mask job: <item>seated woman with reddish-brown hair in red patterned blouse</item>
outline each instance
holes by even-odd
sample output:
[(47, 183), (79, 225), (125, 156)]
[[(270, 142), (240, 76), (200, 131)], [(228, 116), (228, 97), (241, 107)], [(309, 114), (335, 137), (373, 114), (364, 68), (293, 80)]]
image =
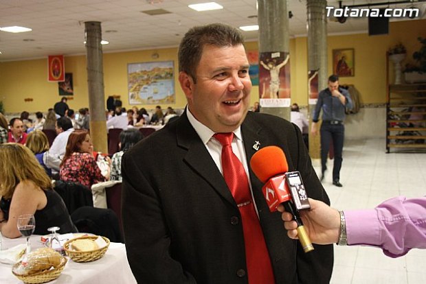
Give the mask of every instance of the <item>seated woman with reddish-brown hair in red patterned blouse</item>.
[[(105, 157), (111, 167), (111, 158)], [(111, 169), (102, 176), (100, 168), (93, 157), (93, 144), (87, 130), (75, 130), (69, 135), (67, 150), (60, 163), (60, 179), (79, 182), (86, 187), (109, 180)]]

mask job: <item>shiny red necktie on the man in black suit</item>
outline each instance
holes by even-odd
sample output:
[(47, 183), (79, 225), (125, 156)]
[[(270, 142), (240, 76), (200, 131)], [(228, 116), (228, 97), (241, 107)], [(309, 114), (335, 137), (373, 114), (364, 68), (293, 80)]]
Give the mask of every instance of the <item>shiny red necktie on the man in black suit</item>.
[(240, 210), (243, 222), (245, 255), (249, 284), (275, 283), (269, 252), (251, 198), (249, 181), (243, 164), (232, 152), (234, 133), (213, 135), (222, 144), (223, 178)]

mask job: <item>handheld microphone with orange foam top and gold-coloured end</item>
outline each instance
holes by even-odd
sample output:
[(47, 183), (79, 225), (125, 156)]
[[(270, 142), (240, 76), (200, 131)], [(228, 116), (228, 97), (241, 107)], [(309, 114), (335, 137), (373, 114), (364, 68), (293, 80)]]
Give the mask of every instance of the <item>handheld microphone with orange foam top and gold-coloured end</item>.
[(298, 224), (299, 241), (304, 252), (313, 250), (299, 215), (299, 210), (311, 208), (299, 171), (287, 172), (289, 170), (287, 158), (277, 146), (267, 146), (258, 150), (251, 157), (250, 167), (258, 179), (265, 183), (262, 193), (267, 200), (269, 211), (276, 211), (278, 204), (282, 203), (284, 209), (293, 215), (293, 220)]

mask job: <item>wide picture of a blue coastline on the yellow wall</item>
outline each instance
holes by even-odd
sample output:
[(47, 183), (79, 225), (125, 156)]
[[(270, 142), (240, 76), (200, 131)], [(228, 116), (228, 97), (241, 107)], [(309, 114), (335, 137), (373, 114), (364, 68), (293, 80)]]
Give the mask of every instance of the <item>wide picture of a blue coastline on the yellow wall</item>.
[(175, 104), (173, 61), (127, 64), (129, 104)]

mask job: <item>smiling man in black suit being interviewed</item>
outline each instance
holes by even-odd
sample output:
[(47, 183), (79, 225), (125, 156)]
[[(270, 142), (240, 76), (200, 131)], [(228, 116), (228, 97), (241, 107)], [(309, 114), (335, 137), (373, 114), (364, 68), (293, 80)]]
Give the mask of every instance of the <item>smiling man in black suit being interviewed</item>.
[[(179, 82), (186, 111), (142, 140), (122, 160), (122, 218), (128, 262), (139, 283), (328, 283), (333, 247), (304, 253), (289, 239), (280, 213), (269, 212), (262, 182), (249, 168), (267, 145), (281, 147), (311, 198), (329, 203), (297, 126), (248, 113), (249, 63), (238, 30), (222, 24), (194, 27), (179, 46)], [(272, 281), (254, 281), (247, 262), (243, 215), (222, 174), (215, 133), (233, 132), (267, 248)], [(244, 206), (244, 204), (243, 204)], [(256, 272), (262, 274), (262, 271)], [(255, 273), (255, 274), (256, 274)], [(257, 278), (259, 279), (259, 278)]]

